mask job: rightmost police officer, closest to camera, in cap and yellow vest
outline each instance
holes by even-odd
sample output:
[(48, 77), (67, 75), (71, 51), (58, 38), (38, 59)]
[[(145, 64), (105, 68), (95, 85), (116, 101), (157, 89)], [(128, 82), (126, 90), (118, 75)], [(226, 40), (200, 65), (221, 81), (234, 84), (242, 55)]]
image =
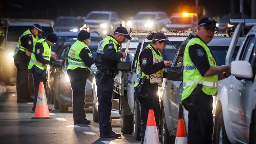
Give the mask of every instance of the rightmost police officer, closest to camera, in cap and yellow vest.
[(207, 44), (213, 39), (216, 21), (204, 17), (197, 36), (185, 48), (182, 105), (188, 110), (188, 144), (211, 144), (213, 133), (212, 95), (218, 80), (230, 76), (230, 66), (216, 66)]

